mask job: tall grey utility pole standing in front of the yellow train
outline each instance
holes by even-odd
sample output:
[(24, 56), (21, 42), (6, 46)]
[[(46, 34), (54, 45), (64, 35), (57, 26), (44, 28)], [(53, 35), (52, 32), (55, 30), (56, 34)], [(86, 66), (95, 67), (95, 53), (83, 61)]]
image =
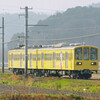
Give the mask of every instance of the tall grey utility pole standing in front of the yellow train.
[(28, 7), (25, 7), (25, 78), (28, 77), (27, 75), (27, 66), (28, 66)]

